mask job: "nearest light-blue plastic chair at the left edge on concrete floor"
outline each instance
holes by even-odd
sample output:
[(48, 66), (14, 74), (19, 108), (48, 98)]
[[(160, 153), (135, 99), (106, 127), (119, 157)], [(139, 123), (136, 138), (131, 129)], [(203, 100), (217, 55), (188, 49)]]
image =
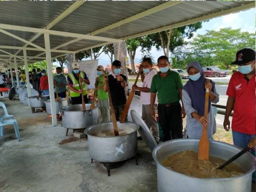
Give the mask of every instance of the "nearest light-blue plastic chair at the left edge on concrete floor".
[(20, 141), (20, 131), (17, 121), (13, 118), (13, 115), (8, 114), (6, 106), (3, 102), (0, 102), (0, 107), (3, 108), (3, 111), (5, 113), (3, 116), (0, 117), (0, 137), (3, 137), (3, 126), (13, 124), (17, 140)]

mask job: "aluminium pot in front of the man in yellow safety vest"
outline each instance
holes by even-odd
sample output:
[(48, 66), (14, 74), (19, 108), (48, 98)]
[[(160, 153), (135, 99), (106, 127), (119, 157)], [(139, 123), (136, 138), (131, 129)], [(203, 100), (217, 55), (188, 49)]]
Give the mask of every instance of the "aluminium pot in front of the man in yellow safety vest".
[(90, 110), (90, 105), (85, 104), (85, 111), (83, 111), (82, 104), (61, 108), (62, 126), (69, 129), (81, 129), (98, 123), (98, 106), (95, 105), (95, 108)]

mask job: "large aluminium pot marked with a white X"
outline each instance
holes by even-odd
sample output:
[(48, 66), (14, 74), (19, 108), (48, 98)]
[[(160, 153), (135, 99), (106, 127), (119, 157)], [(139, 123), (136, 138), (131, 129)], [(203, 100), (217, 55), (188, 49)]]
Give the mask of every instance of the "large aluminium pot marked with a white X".
[(120, 130), (127, 130), (129, 133), (123, 136), (96, 137), (93, 136), (99, 131), (113, 130), (113, 123), (99, 123), (92, 125), (85, 130), (88, 136), (89, 154), (94, 160), (113, 163), (130, 159), (137, 154), (137, 130), (139, 125), (134, 122), (117, 122)]

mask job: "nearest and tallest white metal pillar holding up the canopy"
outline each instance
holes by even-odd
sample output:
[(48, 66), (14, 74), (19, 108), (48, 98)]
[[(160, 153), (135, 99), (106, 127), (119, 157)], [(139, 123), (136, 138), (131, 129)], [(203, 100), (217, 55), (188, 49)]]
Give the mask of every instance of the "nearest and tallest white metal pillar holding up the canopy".
[(56, 119), (56, 106), (54, 98), (54, 89), (53, 89), (53, 76), (52, 76), (52, 57), (51, 57), (51, 47), (50, 47), (50, 38), (48, 33), (44, 33), (44, 44), (45, 44), (45, 55), (47, 61), (47, 73), (48, 73), (48, 83), (49, 83), (49, 93), (50, 93), (50, 103), (51, 103), (51, 114), (52, 114), (52, 126), (57, 125)]

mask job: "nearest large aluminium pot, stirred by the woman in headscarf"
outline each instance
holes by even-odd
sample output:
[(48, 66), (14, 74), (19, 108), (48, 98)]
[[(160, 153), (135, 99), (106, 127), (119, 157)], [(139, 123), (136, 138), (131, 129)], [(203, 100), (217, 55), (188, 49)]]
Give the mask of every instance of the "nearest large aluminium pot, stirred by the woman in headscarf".
[[(195, 178), (174, 172), (164, 167), (161, 162), (169, 155), (184, 150), (198, 151), (199, 140), (177, 139), (161, 143), (153, 150), (153, 158), (157, 163), (158, 192), (250, 192), (252, 173), (255, 171), (255, 159), (247, 152), (233, 163), (246, 172), (230, 178)], [(239, 153), (241, 148), (220, 141), (210, 141), (209, 155), (228, 160)]]

